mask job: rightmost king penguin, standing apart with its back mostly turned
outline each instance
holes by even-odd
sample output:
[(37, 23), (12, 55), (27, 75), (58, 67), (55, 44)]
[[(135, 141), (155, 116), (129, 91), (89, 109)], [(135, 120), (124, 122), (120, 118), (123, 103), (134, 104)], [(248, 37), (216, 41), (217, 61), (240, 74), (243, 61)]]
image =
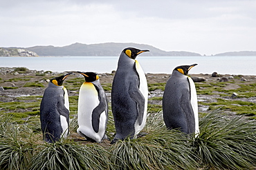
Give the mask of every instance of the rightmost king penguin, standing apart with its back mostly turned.
[(176, 67), (163, 93), (163, 119), (167, 129), (199, 134), (196, 88), (188, 71), (197, 64)]

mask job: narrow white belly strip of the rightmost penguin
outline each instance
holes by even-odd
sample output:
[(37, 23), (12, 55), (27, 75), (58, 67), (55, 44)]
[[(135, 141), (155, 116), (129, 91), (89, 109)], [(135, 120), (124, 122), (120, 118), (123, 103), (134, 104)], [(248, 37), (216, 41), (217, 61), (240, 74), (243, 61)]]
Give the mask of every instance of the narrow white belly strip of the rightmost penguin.
[(190, 103), (192, 105), (192, 109), (194, 111), (194, 120), (195, 120), (195, 134), (196, 136), (199, 134), (199, 115), (198, 115), (198, 105), (197, 105), (197, 96), (196, 96), (196, 87), (194, 85), (194, 81), (192, 78), (188, 77), (190, 81), (190, 92), (191, 92), (191, 100)]

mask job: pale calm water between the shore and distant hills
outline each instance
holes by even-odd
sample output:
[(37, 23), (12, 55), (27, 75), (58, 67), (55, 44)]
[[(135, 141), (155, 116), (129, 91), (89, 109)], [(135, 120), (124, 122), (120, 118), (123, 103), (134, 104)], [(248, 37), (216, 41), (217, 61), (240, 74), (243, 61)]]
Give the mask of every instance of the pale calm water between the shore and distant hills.
[[(0, 67), (27, 67), (53, 72), (80, 71), (111, 73), (119, 56), (0, 57)], [(190, 74), (256, 75), (256, 56), (138, 56), (145, 73), (167, 73), (179, 65), (197, 63)]]

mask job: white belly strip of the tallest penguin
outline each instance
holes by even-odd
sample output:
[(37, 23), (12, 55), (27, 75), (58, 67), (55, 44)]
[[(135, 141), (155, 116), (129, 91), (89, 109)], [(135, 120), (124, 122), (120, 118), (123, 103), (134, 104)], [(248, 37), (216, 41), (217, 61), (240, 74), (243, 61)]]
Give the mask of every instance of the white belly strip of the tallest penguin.
[(141, 125), (139, 125), (138, 120), (136, 120), (135, 123), (135, 138), (138, 135), (138, 133), (143, 129), (143, 127), (145, 126), (146, 123), (146, 119), (147, 119), (147, 98), (148, 98), (148, 89), (147, 89), (147, 78), (145, 76), (145, 72), (143, 71), (143, 68), (140, 66), (140, 63), (138, 63), (138, 61), (136, 62), (136, 70), (138, 72), (138, 76), (140, 78), (140, 92), (143, 94), (144, 98), (145, 98), (145, 110), (144, 110), (144, 114), (143, 114), (143, 123)]

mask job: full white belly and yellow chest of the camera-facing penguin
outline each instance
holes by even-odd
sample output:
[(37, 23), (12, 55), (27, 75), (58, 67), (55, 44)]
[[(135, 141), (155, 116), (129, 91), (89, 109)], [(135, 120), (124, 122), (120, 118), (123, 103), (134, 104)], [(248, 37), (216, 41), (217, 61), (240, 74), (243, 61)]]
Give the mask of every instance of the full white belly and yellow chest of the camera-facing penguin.
[[(105, 111), (100, 115), (100, 127), (98, 133), (95, 133), (92, 125), (93, 109), (100, 103), (98, 92), (92, 83), (83, 83), (80, 87), (80, 94), (78, 98), (77, 122), (79, 128), (77, 133), (80, 136), (86, 136), (100, 142), (104, 136), (105, 123), (107, 120)], [(82, 133), (82, 134), (81, 134)]]

